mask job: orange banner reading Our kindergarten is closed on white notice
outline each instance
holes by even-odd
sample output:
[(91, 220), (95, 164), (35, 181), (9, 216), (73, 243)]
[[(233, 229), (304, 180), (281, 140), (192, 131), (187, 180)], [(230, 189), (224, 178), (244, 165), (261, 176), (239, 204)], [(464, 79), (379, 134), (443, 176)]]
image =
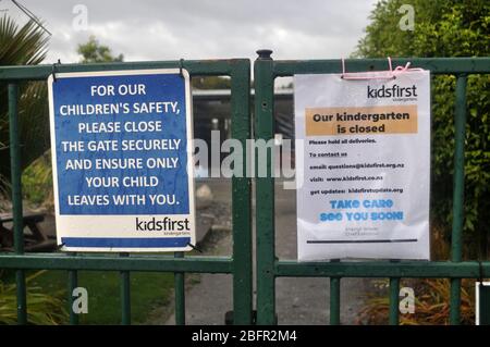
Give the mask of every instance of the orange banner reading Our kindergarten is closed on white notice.
[(417, 133), (417, 106), (306, 108), (306, 136)]

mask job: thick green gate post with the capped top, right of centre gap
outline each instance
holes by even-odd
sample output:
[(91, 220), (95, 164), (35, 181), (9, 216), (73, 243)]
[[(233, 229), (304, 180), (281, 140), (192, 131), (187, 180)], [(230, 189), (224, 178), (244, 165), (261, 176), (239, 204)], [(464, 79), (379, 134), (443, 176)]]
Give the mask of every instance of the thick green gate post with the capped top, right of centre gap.
[[(257, 140), (273, 138), (274, 76), (272, 51), (257, 51), (255, 76), (255, 132)], [(259, 156), (257, 156), (259, 157)], [(267, 149), (265, 162), (256, 160), (256, 233), (257, 233), (257, 324), (275, 324), (275, 245), (273, 150)], [(260, 168), (267, 175), (260, 177)]]

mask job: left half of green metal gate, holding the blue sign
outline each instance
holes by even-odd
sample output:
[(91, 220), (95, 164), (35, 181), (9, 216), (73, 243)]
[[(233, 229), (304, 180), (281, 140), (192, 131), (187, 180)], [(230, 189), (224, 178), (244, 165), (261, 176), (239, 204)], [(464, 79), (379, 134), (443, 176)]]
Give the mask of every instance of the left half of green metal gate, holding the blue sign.
[[(142, 69), (177, 69), (181, 61), (108, 63), (108, 64), (57, 64), (56, 72), (91, 72)], [(246, 59), (183, 61), (182, 67), (193, 76), (230, 76), (232, 137), (242, 141), (250, 138), (250, 62)], [(53, 72), (52, 65), (3, 66), (0, 67), (0, 83), (9, 88), (10, 153), (12, 172), (12, 203), (14, 215), (14, 252), (0, 253), (0, 269), (16, 270), (17, 322), (27, 323), (25, 271), (30, 269), (66, 270), (69, 281), (70, 322), (76, 324), (72, 290), (77, 286), (78, 270), (106, 270), (121, 272), (121, 318), (123, 324), (131, 323), (130, 274), (131, 271), (173, 272), (175, 278), (175, 322), (185, 324), (185, 273), (228, 273), (233, 276), (233, 323), (252, 323), (252, 213), (250, 178), (232, 179), (233, 255), (232, 257), (184, 258), (183, 252), (174, 256), (111, 255), (95, 256), (82, 253), (24, 253), (23, 211), (21, 188), (21, 156), (19, 139), (19, 85), (29, 80), (46, 80)], [(246, 154), (243, 160), (245, 162)], [(3, 163), (2, 163), (3, 164)], [(245, 169), (244, 169), (245, 170)], [(224, 320), (224, 314), (223, 314)]]

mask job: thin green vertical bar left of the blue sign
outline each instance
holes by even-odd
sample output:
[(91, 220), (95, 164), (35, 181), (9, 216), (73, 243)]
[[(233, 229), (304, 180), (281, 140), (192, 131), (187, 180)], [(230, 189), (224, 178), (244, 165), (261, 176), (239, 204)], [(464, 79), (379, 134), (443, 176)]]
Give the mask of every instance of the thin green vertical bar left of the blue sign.
[[(14, 230), (14, 248), (17, 255), (24, 253), (24, 225), (22, 212), (21, 185), (21, 146), (19, 140), (19, 86), (9, 84), (9, 126), (10, 126), (10, 166), (12, 183), (12, 211)], [(26, 287), (24, 270), (15, 273), (17, 294), (17, 323), (27, 323)]]

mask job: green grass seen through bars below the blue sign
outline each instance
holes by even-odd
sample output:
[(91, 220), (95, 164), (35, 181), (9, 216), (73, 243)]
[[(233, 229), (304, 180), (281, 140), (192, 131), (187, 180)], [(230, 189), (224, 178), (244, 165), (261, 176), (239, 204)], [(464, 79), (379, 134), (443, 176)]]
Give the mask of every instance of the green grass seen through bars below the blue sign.
[[(47, 271), (36, 277), (33, 285), (44, 288), (46, 293), (64, 290), (63, 303), (68, 308), (68, 273), (65, 271)], [(78, 271), (78, 286), (88, 292), (88, 313), (79, 315), (81, 324), (121, 323), (119, 272)], [(144, 323), (155, 308), (169, 303), (172, 292), (173, 274), (132, 272), (132, 323)]]

